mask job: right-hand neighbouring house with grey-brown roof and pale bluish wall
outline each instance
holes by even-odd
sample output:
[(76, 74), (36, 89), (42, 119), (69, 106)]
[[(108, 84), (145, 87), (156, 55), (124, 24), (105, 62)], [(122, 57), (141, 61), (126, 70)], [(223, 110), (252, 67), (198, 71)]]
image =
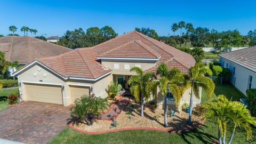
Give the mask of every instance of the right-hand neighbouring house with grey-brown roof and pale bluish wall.
[(221, 66), (232, 72), (231, 83), (245, 94), (256, 88), (256, 46), (219, 54)]

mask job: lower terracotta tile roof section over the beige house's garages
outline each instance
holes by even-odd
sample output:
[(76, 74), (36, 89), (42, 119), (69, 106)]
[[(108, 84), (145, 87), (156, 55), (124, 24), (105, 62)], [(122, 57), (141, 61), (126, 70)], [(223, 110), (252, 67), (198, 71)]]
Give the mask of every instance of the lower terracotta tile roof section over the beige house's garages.
[(63, 77), (98, 78), (111, 71), (96, 60), (97, 53), (89, 47), (37, 61)]

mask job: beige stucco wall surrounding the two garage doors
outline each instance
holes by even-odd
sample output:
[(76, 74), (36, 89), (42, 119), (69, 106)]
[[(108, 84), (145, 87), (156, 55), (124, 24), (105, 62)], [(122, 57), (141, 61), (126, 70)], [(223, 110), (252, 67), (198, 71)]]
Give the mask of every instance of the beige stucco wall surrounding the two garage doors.
[[(41, 69), (41, 70), (38, 70)], [(36, 76), (34, 76), (34, 73), (36, 73)], [(46, 77), (43, 75), (46, 74)], [(69, 85), (81, 85), (86, 86), (88, 88), (92, 87), (92, 93), (95, 93), (97, 97), (107, 97), (107, 93), (105, 92), (105, 89), (107, 88), (110, 79), (113, 79), (113, 76), (110, 74), (106, 77), (103, 77), (99, 79), (98, 81), (82, 81), (82, 80), (65, 80), (55, 74), (52, 73), (52, 71), (44, 68), (40, 65), (34, 65), (28, 68), (26, 71), (18, 75), (19, 82), (21, 83), (21, 86), (19, 88), (21, 97), (23, 100), (26, 99), (26, 93), (25, 93), (25, 84), (23, 82), (32, 82), (32, 83), (44, 83), (44, 84), (60, 84), (64, 86), (64, 90), (62, 91), (62, 97), (63, 97), (63, 106), (69, 106), (71, 102), (70, 98), (70, 86)], [(40, 82), (42, 81), (42, 82)], [(82, 95), (81, 95), (82, 96)]]

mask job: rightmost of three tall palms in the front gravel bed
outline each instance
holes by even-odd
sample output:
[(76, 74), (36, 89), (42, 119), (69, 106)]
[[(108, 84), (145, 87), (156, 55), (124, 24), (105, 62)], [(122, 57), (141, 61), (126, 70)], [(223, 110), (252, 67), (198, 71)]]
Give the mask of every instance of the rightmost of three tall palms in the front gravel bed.
[(206, 91), (208, 97), (212, 96), (212, 93), (215, 89), (215, 84), (212, 81), (212, 79), (204, 76), (207, 73), (207, 71), (207, 68), (205, 68), (201, 62), (199, 62), (196, 63), (195, 66), (191, 67), (189, 70), (189, 74), (185, 76), (185, 81), (187, 81), (186, 83), (190, 83), (191, 85), (188, 117), (189, 124), (192, 123), (191, 117), (194, 94), (196, 98), (199, 98), (199, 87), (202, 87)]

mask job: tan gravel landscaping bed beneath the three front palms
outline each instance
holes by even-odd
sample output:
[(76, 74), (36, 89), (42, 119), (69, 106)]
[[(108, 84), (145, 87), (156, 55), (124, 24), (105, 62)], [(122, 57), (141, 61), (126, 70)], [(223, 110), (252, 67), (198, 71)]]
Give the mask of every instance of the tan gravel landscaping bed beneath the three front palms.
[[(132, 117), (129, 115), (132, 115)], [(95, 119), (93, 125), (80, 123), (74, 125), (74, 130), (84, 133), (105, 133), (119, 130), (134, 130), (134, 129), (149, 129), (160, 130), (166, 132), (182, 132), (195, 129), (204, 122), (201, 121), (202, 117), (193, 115), (193, 124), (189, 125), (188, 114), (183, 111), (176, 111), (175, 116), (167, 117), (168, 127), (164, 127), (164, 110), (163, 109), (150, 109), (148, 107), (144, 110), (144, 117), (140, 116), (140, 105), (135, 102), (129, 103), (118, 115), (116, 119), (118, 125), (111, 126), (112, 121), (102, 121)], [(71, 125), (69, 125), (71, 127)], [(72, 128), (72, 127), (71, 127)]]

